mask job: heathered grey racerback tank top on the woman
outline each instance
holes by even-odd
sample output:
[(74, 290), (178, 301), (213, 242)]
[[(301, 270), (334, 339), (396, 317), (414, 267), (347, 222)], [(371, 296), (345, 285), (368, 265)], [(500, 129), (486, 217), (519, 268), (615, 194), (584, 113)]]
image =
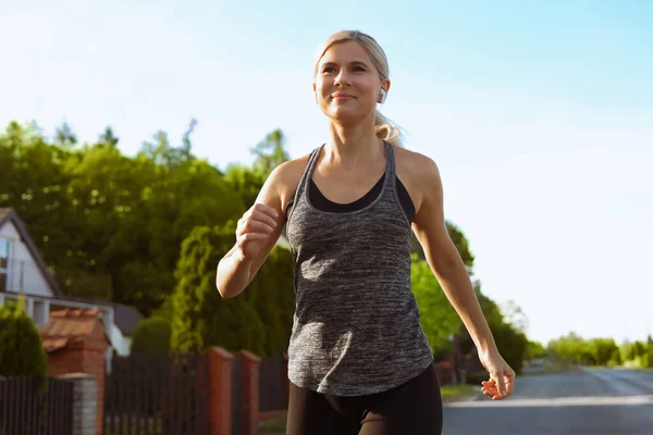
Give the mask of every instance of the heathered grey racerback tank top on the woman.
[(410, 286), (410, 222), (396, 192), (394, 150), (385, 142), (383, 190), (369, 206), (328, 212), (308, 195), (322, 147), (287, 219), (296, 296), (288, 377), (336, 396), (379, 393), (433, 362)]

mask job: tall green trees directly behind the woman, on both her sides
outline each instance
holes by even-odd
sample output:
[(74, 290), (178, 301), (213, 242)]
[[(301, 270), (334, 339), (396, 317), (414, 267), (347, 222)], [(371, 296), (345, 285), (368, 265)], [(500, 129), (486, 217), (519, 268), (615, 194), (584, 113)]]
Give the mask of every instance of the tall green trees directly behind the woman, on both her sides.
[[(251, 165), (221, 171), (193, 153), (195, 126), (192, 121), (177, 144), (157, 132), (128, 157), (111, 127), (93, 144), (79, 144), (65, 124), (47, 138), (35, 124), (12, 122), (0, 134), (0, 207), (16, 210), (66, 295), (132, 304), (149, 318), (135, 333), (135, 345), (151, 346), (138, 337), (145, 333), (177, 351), (218, 345), (281, 355), (294, 312), (287, 247), (272, 251), (237, 298), (222, 299), (214, 277), (219, 259), (235, 241), (236, 221), (270, 172), (289, 159), (283, 132), (269, 133), (251, 148)], [(472, 272), (469, 241), (452, 222), (447, 229)], [(444, 356), (456, 341), (472, 353), (415, 238), (411, 272), (433, 352)], [(542, 346), (527, 338), (518, 307), (506, 312), (479, 282), (476, 291), (500, 349), (519, 370)]]

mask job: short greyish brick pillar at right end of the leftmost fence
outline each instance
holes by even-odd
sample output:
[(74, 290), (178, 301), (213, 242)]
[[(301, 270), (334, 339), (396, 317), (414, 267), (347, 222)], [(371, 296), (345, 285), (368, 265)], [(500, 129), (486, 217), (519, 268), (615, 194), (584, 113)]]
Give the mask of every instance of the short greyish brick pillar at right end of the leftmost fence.
[(97, 380), (86, 373), (69, 373), (58, 376), (73, 383), (73, 432), (72, 435), (98, 433)]

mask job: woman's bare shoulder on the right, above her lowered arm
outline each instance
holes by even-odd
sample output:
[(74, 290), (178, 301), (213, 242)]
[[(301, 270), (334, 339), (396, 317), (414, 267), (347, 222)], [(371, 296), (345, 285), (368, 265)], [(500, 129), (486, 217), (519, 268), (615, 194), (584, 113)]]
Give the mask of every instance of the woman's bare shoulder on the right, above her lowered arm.
[(426, 197), (441, 195), (440, 169), (433, 159), (405, 148), (395, 148), (396, 173), (419, 213)]

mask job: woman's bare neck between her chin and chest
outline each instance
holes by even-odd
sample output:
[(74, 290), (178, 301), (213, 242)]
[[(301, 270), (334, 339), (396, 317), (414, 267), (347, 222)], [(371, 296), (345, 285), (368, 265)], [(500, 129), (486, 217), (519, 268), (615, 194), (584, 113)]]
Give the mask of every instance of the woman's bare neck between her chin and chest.
[(374, 119), (362, 123), (343, 125), (332, 122), (331, 139), (324, 146), (324, 159), (346, 167), (360, 167), (384, 159), (383, 140), (374, 133)]

